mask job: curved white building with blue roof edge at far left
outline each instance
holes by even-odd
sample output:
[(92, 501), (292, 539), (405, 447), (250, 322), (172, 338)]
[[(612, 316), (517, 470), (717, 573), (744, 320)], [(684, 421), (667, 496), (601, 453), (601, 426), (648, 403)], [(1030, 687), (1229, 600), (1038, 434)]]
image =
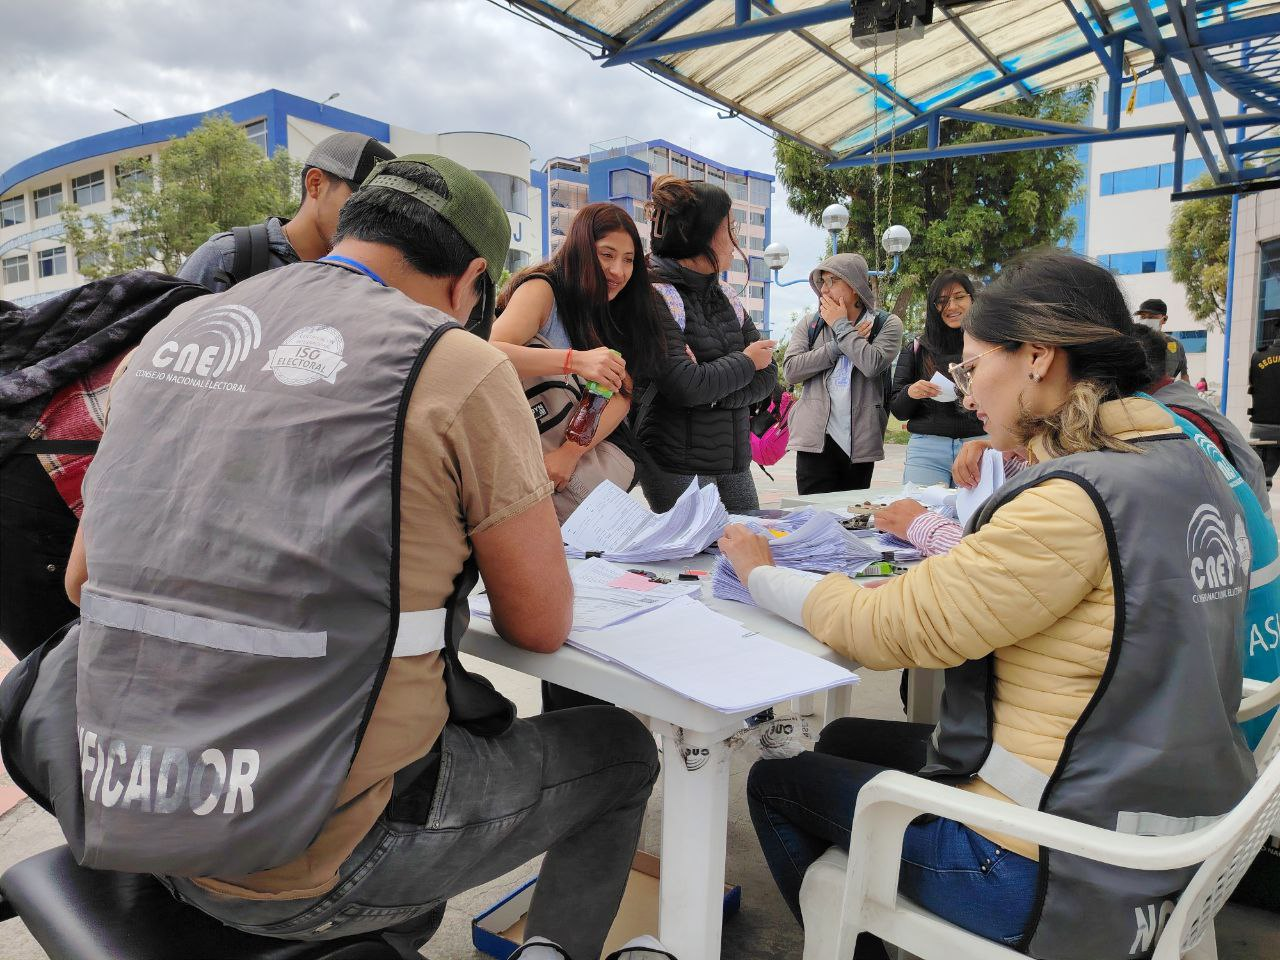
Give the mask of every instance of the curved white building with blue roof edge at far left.
[[(76, 250), (63, 238), (59, 207), (78, 204), (110, 215), (120, 164), (157, 156), (211, 114), (227, 114), (250, 140), (273, 155), (285, 148), (305, 160), (339, 131), (365, 133), (397, 154), (440, 154), (479, 173), (502, 200), (511, 220), (508, 269), (541, 253), (543, 201), (531, 188), (529, 145), (500, 133), (421, 133), (279, 90), (268, 90), (204, 113), (134, 123), (63, 143), (0, 174), (0, 300), (35, 303), (84, 282)], [(292, 210), (279, 211), (288, 216)], [(128, 224), (118, 229), (127, 230)]]

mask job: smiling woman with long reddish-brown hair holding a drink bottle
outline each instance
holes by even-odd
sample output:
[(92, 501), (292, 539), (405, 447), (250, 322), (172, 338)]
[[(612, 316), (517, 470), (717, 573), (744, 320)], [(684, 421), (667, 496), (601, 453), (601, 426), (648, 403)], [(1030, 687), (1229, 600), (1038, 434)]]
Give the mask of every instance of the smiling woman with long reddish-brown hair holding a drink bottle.
[[(640, 233), (627, 211), (616, 204), (589, 204), (579, 210), (564, 246), (547, 262), (512, 276), (498, 297), (498, 310), (500, 316), (489, 339), (511, 358), (526, 390), (547, 378), (561, 378), (564, 385), (572, 376), (614, 392), (590, 444), (544, 444), (547, 472), (556, 489), (568, 488), (582, 458), (602, 444), (618, 448), (634, 462), (637, 452), (625, 424), (632, 378), (653, 376), (658, 370), (663, 334)], [(556, 420), (557, 413), (545, 404), (535, 402), (534, 407), (535, 415), (543, 413), (539, 429), (543, 421)], [(563, 430), (563, 419), (548, 429), (554, 428)], [(608, 461), (604, 453), (599, 452), (602, 462)], [(593, 481), (608, 476), (630, 486), (634, 466), (625, 479), (616, 471), (604, 466)], [(566, 507), (580, 502), (590, 489), (575, 493)], [(557, 509), (564, 513), (559, 502)]]

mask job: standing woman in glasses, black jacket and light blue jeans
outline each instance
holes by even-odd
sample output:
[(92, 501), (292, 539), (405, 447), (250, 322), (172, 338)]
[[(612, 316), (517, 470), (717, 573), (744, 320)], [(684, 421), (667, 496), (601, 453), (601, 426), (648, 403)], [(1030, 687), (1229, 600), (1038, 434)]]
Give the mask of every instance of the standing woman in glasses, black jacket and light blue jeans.
[[(934, 375), (947, 376), (947, 367), (960, 360), (964, 330), (960, 328), (973, 303), (974, 287), (968, 274), (943, 270), (929, 285), (924, 333), (897, 358), (893, 370), (893, 401), (890, 412), (906, 422), (902, 480), (928, 486), (952, 486), (951, 465), (965, 440), (984, 431), (972, 410), (960, 399), (938, 399), (942, 388)], [(948, 378), (950, 379), (950, 378)]]

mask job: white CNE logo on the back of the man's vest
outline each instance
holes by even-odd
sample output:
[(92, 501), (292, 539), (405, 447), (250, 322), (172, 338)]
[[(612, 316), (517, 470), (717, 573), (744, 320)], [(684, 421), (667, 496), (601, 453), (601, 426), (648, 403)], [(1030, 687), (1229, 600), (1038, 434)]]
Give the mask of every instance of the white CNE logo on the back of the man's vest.
[(138, 376), (188, 387), (243, 393), (243, 384), (221, 378), (262, 343), (257, 314), (237, 303), (202, 310), (169, 332)]

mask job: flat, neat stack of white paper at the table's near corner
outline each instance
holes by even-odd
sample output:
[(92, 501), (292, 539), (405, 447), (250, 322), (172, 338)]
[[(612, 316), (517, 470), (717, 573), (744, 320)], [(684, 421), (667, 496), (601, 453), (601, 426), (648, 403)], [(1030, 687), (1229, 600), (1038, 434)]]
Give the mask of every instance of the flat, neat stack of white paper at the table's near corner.
[(795, 650), (678, 598), (568, 643), (722, 713), (750, 713), (794, 696), (858, 682), (858, 675)]

